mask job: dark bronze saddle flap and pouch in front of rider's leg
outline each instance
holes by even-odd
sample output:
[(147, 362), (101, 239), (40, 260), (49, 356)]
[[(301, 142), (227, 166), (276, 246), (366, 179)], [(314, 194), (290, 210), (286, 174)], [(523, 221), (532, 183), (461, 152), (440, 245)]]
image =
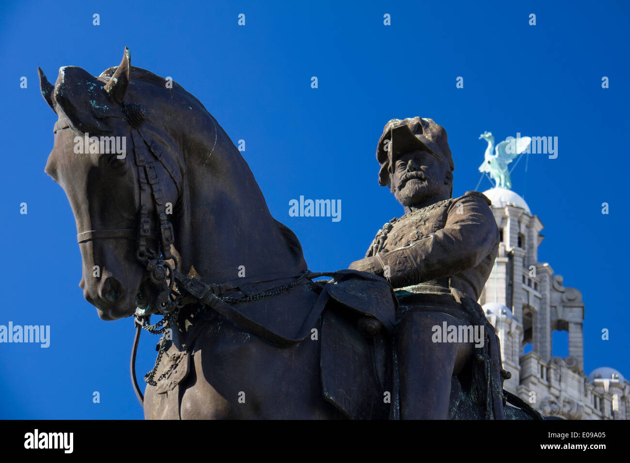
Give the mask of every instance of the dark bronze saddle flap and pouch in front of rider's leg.
[(324, 285), (321, 382), (324, 398), (348, 418), (396, 418), (393, 332), (398, 299), (384, 278), (341, 270)]

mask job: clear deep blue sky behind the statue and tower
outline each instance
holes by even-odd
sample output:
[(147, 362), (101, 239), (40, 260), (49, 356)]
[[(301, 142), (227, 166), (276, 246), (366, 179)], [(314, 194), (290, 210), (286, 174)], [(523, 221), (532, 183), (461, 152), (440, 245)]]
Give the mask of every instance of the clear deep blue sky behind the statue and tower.
[[(377, 183), (375, 149), (390, 118), (430, 117), (445, 127), (454, 196), (479, 181), (484, 130), (497, 139), (557, 136), (558, 158), (531, 155), (527, 172), (522, 160), (513, 190), (545, 226), (539, 260), (583, 294), (585, 371), (610, 366), (630, 376), (627, 4), (59, 5), (0, 6), (0, 324), (51, 327), (49, 348), (0, 345), (0, 418), (142, 418), (128, 372), (132, 320), (101, 321), (78, 287), (74, 218), (43, 172), (56, 116), (37, 80), (37, 66), (51, 81), (69, 65), (98, 76), (118, 65), (125, 46), (134, 66), (172, 76), (232, 140), (246, 140), (243, 156), (272, 214), (297, 234), (316, 272), (362, 258), (382, 224), (403, 214)], [(239, 13), (245, 26), (237, 24)], [(386, 13), (391, 26), (383, 25)], [(528, 24), (530, 13), (536, 26)], [(22, 76), (27, 88), (20, 88)], [(458, 76), (462, 89), (455, 88)], [(479, 190), (490, 187), (483, 180)], [(289, 217), (289, 201), (301, 195), (340, 199), (341, 220)], [(602, 328), (610, 330), (607, 341)], [(143, 334), (139, 377), (152, 367), (156, 342)]]

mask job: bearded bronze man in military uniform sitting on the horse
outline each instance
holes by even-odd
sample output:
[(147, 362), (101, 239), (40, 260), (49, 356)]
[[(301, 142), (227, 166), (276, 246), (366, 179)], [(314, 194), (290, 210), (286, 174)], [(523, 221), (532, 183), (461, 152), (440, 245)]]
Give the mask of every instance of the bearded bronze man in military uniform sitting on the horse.
[[(400, 302), (399, 418), (446, 419), (451, 379), (466, 365), (473, 365), (472, 383), (478, 401), (485, 399), (486, 418), (503, 418), (498, 343), (476, 302), (498, 252), (490, 200), (477, 191), (451, 198), (454, 164), (446, 132), (432, 119), (390, 120), (376, 157), (379, 183), (389, 186), (404, 215), (385, 224), (365, 258), (350, 268), (386, 277)], [(486, 346), (461, 335), (444, 342), (444, 328), (483, 333)], [(492, 392), (484, 396), (481, 389), (488, 391), (489, 383)]]

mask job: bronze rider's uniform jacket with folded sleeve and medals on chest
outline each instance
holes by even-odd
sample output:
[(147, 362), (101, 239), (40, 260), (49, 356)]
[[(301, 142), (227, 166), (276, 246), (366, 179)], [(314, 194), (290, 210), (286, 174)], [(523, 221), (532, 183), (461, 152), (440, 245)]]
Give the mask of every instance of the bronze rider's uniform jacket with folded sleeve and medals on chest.
[(396, 289), (450, 295), (453, 286), (477, 300), (499, 246), (489, 206), (482, 193), (467, 191), (392, 219), (365, 256), (379, 259)]

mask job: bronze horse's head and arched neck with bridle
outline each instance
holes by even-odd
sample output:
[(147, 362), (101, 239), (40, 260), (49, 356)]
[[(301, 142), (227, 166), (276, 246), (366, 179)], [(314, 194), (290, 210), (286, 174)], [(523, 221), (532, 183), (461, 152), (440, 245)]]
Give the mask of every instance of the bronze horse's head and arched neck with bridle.
[(192, 94), (131, 67), (126, 48), (120, 66), (98, 77), (67, 66), (53, 86), (39, 72), (58, 116), (45, 172), (70, 202), (79, 286), (102, 319), (156, 306), (168, 278), (156, 282), (155, 261), (215, 282), (241, 268), (306, 269), (299, 241), (273, 219), (240, 152)]

